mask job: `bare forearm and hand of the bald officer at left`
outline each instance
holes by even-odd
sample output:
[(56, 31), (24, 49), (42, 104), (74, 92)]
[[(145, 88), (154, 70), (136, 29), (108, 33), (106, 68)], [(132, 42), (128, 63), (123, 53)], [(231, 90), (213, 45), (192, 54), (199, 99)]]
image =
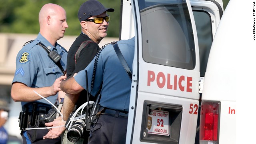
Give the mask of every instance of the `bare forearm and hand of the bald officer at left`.
[(12, 84), (11, 96), (15, 102), (32, 102), (42, 99), (34, 91), (43, 96), (44, 98), (48, 96), (54, 96), (60, 91), (60, 82), (66, 79), (66, 76), (60, 76), (55, 80), (52, 86), (42, 87), (42, 88), (30, 88), (21, 82), (14, 82)]

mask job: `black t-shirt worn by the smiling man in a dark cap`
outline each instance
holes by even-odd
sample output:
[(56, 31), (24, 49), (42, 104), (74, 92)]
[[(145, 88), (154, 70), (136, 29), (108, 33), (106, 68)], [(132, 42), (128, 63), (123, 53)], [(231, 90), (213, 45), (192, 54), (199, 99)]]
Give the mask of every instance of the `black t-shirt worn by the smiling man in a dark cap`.
[[(95, 42), (88, 43), (80, 52), (79, 58), (75, 64), (75, 54), (82, 44), (82, 42), (86, 40), (91, 40), (85, 34), (80, 34), (76, 40), (71, 45), (70, 49), (68, 50), (68, 57), (67, 57), (67, 79), (72, 77), (74, 73), (78, 73), (81, 70), (84, 70), (88, 64), (93, 60), (97, 52), (100, 50), (100, 47)], [(88, 84), (90, 86), (90, 84)], [(86, 97), (86, 90), (83, 90), (80, 93), (79, 99), (76, 102), (76, 109), (79, 108), (82, 104), (87, 102)]]

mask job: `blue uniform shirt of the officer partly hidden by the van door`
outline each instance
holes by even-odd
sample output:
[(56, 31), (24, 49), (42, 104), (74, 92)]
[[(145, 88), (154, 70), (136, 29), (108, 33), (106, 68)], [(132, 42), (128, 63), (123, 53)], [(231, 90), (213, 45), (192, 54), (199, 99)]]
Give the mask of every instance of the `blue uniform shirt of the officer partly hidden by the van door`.
[[(134, 58), (134, 37), (129, 40), (120, 40), (117, 44), (128, 66), (132, 70), (132, 62)], [(100, 92), (100, 106), (128, 112), (132, 81), (118, 59), (112, 44), (107, 45), (100, 53), (94, 87), (91, 92), (90, 83), (92, 80), (94, 61), (95, 58), (85, 69), (88, 74), (89, 92), (95, 96), (102, 84), (102, 90)], [(84, 89), (86, 89), (85, 70), (78, 72), (74, 77), (76, 82)]]

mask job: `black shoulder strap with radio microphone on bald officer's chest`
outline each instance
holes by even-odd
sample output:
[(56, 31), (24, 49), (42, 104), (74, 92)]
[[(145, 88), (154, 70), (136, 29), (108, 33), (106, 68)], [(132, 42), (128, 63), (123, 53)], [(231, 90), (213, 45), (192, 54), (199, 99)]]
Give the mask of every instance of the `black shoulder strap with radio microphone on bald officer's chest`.
[(44, 50), (48, 53), (48, 56), (51, 58), (52, 61), (54, 61), (54, 63), (57, 64), (57, 66), (60, 68), (60, 70), (62, 71), (62, 73), (64, 74), (65, 70), (62, 68), (61, 64), (60, 64), (60, 59), (61, 56), (60, 54), (58, 54), (55, 51), (50, 51), (48, 48), (46, 48), (46, 46), (44, 44), (42, 44), (41, 42), (38, 43), (39, 46), (41, 46), (42, 48), (44, 48)]

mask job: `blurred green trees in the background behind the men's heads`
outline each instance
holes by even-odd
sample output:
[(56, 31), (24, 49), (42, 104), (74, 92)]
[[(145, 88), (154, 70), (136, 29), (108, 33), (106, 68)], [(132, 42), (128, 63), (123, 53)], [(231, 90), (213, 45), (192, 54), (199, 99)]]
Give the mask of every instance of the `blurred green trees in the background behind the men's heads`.
[[(62, 6), (67, 13), (68, 29), (66, 35), (80, 34), (77, 17), (78, 9), (86, 0), (0, 0), (0, 32), (37, 34), (39, 32), (38, 14), (46, 3)], [(99, 0), (106, 8), (114, 8), (110, 15), (108, 37), (119, 37), (121, 0)], [(224, 9), (229, 0), (223, 0)]]

